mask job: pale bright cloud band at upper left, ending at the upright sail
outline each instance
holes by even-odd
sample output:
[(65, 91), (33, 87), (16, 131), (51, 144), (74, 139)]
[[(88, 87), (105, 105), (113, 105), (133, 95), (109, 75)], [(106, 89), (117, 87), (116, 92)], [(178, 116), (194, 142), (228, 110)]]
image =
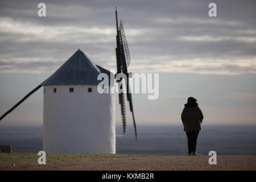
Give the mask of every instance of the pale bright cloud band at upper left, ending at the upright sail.
[[(17, 22), (10, 18), (0, 18), (0, 32), (3, 34), (18, 35), (16, 42), (106, 42), (109, 41), (108, 35), (113, 35), (114, 28), (80, 28), (73, 26), (43, 26), (29, 22)], [(83, 35), (84, 39), (80, 39)], [(86, 35), (88, 35), (86, 39)], [(104, 35), (101, 39), (100, 35)], [(94, 36), (98, 36), (95, 39)]]

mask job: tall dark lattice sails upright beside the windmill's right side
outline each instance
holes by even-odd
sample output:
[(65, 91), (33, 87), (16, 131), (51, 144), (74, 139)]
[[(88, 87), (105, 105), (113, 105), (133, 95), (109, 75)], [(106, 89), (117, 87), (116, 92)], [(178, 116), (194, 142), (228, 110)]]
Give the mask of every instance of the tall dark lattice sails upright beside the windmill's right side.
[[(128, 44), (126, 41), (125, 36), (125, 30), (123, 28), (122, 22), (120, 23), (120, 26), (118, 28), (118, 18), (117, 18), (117, 8), (115, 8), (115, 20), (117, 23), (117, 47), (115, 48), (116, 58), (117, 58), (117, 74), (123, 73), (126, 75), (127, 79), (124, 81), (126, 84), (126, 96), (127, 101), (129, 101), (130, 111), (133, 114), (133, 125), (134, 125), (134, 131), (135, 131), (135, 139), (137, 140), (137, 129), (136, 129), (136, 123), (134, 119), (134, 111), (133, 111), (133, 101), (131, 98), (130, 93), (130, 86), (129, 86), (129, 73), (127, 71), (127, 67), (130, 64), (130, 53)], [(118, 82), (123, 81), (119, 80)], [(123, 93), (119, 93), (119, 104), (121, 105), (121, 114), (122, 114), (122, 121), (123, 121), (123, 135), (125, 134), (125, 128), (126, 128), (126, 115), (125, 115), (125, 102), (123, 100)]]

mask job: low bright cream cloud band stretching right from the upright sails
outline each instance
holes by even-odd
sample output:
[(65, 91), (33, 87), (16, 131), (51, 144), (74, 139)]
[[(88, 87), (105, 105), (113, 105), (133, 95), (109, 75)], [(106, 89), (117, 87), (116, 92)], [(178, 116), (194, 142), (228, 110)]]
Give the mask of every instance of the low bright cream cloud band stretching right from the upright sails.
[[(154, 60), (156, 60), (155, 58)], [(140, 72), (143, 68), (148, 72), (177, 72), (177, 73), (199, 73), (199, 74), (218, 74), (218, 75), (237, 75), (240, 73), (256, 73), (256, 57), (253, 59), (246, 57), (236, 57), (233, 59), (183, 59), (167, 60), (162, 57), (161, 64), (148, 64), (149, 60), (141, 61), (141, 65), (133, 66), (134, 72)], [(154, 62), (152, 60), (152, 62)]]

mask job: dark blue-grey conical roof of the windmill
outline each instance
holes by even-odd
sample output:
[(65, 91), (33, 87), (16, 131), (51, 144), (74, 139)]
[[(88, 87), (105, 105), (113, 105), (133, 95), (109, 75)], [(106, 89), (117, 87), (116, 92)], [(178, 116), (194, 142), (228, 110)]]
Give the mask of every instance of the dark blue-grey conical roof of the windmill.
[(55, 73), (42, 82), (44, 85), (97, 85), (100, 73), (110, 72), (89, 60), (84, 52), (78, 49)]

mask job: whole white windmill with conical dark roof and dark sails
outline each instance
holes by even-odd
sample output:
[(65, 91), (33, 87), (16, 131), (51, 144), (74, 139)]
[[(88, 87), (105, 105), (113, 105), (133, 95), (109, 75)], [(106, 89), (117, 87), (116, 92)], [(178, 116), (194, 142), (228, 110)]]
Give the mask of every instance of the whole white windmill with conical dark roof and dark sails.
[[(117, 11), (115, 11), (117, 20)], [(128, 77), (129, 49), (122, 22), (117, 22), (117, 74)], [(114, 94), (97, 92), (100, 73), (112, 74), (94, 64), (78, 49), (53, 75), (36, 86), (30, 93), (0, 117), (0, 121), (43, 86), (43, 150), (46, 152), (86, 152), (115, 154), (115, 108)], [(129, 77), (128, 77), (129, 78)], [(119, 80), (118, 82), (123, 81)], [(127, 100), (133, 114), (137, 140), (133, 103), (129, 92), (129, 79), (125, 81)], [(110, 88), (114, 87), (111, 85)], [(119, 104), (125, 134), (126, 115), (124, 94), (119, 93)]]

